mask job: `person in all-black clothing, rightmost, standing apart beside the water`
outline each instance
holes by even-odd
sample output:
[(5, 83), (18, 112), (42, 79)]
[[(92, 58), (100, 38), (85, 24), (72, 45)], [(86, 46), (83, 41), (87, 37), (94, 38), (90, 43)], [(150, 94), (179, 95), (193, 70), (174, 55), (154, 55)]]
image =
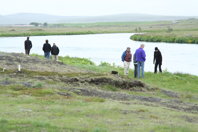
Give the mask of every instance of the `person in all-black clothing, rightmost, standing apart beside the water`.
[(157, 67), (159, 66), (159, 71), (162, 72), (161, 66), (162, 66), (162, 54), (158, 47), (155, 47), (154, 51), (154, 58), (153, 58), (153, 64), (155, 64), (155, 70), (154, 73), (157, 73)]

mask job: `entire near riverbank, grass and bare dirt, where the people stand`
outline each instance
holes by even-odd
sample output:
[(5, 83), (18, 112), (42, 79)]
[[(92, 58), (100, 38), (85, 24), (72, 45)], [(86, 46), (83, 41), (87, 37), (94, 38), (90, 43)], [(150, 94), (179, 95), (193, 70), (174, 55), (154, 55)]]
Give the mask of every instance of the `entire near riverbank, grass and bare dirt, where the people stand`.
[(165, 71), (137, 80), (133, 71), (126, 77), (121, 67), (85, 58), (0, 55), (2, 132), (198, 129), (197, 76)]

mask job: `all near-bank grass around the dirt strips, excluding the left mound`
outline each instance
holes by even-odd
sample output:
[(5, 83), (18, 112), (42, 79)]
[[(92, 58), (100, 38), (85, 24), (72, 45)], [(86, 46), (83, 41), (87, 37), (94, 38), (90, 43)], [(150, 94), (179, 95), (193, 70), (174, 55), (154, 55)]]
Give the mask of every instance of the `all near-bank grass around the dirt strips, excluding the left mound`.
[[(108, 63), (96, 66), (88, 59), (71, 57), (60, 57), (60, 61), (79, 69), (94, 71), (94, 76), (107, 77), (111, 70), (117, 70), (121, 78), (133, 80), (133, 71), (126, 77), (123, 76), (123, 68)], [(163, 106), (163, 103), (168, 103), (165, 100), (169, 100), (169, 103), (171, 100), (178, 100), (197, 104), (197, 76), (168, 72), (146, 73), (145, 79), (141, 81), (152, 87), (180, 94), (179, 97), (170, 97), (159, 90), (138, 92), (122, 90), (113, 85), (73, 85), (57, 78), (87, 78), (93, 76), (90, 73), (23, 71), (17, 75), (12, 72), (0, 73), (0, 132), (196, 132), (198, 129), (198, 111), (190, 112)], [(160, 98), (165, 102), (156, 104), (141, 100), (83, 96), (64, 90), (68, 87), (86, 87), (94, 91), (100, 89), (104, 93)], [(57, 94), (60, 92), (66, 93), (67, 96)]]

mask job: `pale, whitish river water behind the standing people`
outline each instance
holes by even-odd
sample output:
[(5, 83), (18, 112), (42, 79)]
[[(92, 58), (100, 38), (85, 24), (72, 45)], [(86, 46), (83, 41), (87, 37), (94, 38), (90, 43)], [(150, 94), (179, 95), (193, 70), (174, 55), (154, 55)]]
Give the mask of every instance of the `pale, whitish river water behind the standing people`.
[[(130, 40), (132, 33), (94, 34), (94, 35), (61, 35), (61, 36), (33, 36), (31, 53), (43, 55), (42, 46), (46, 39), (49, 43), (56, 43), (61, 56), (89, 58), (96, 64), (109, 62), (122, 66), (121, 54), (126, 47), (131, 47), (132, 53), (145, 44), (145, 71), (154, 70), (153, 52), (158, 47), (163, 56), (163, 70), (175, 73), (189, 73), (198, 75), (198, 45), (150, 43)], [(1, 37), (0, 51), (24, 52), (26, 37)], [(131, 65), (133, 68), (133, 65)]]

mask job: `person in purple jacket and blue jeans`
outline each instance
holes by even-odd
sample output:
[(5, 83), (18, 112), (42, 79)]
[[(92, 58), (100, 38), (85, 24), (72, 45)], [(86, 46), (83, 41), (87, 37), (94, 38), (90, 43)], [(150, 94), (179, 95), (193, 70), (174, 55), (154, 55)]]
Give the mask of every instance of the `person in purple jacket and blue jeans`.
[(146, 61), (146, 54), (144, 51), (144, 44), (140, 45), (135, 52), (135, 57), (137, 61), (137, 77), (140, 78), (140, 69), (142, 71), (142, 78), (144, 78), (144, 62)]

